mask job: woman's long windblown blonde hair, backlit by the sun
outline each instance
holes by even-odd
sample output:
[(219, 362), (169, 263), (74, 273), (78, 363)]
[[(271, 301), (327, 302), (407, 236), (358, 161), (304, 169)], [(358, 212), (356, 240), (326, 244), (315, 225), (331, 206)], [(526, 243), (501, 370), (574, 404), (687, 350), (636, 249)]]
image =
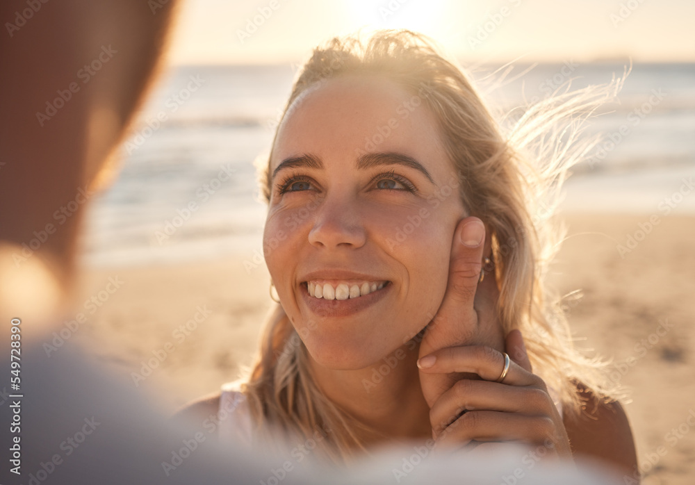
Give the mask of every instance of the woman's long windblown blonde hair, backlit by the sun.
[[(579, 137), (582, 122), (614, 95), (620, 82), (556, 92), (523, 108), (503, 133), (461, 69), (439, 54), (431, 40), (410, 31), (378, 31), (366, 42), (334, 38), (314, 50), (284, 113), (308, 88), (345, 74), (390, 79), (420, 95), (438, 120), (445, 150), (459, 173), (464, 206), (491, 233), (502, 329), (505, 334), (521, 330), (534, 372), (557, 392), (564, 409), (580, 409), (579, 383), (596, 395), (612, 395), (601, 363), (573, 347), (562, 299), (550, 293), (544, 279), (564, 238), (564, 228), (553, 219), (559, 188), (568, 168), (593, 146), (593, 140)], [(267, 201), (268, 164), (261, 171)], [(329, 429), (321, 448), (337, 462), (365, 450), (359, 433), (369, 430), (322, 395), (307, 365), (306, 347), (280, 305), (271, 311), (262, 341), (242, 386), (259, 430), (272, 425), (308, 438), (317, 429)]]

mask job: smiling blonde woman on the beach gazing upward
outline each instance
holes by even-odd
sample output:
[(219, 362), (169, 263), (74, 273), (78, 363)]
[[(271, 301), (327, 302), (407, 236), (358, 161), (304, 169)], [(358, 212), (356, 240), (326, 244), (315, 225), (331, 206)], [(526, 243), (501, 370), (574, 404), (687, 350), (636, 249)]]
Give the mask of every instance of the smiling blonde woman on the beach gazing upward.
[(504, 135), (421, 35), (316, 49), (262, 176), (279, 304), (250, 375), (187, 412), (234, 409), (222, 434), (284, 431), (336, 461), (512, 441), (632, 472), (625, 413), (543, 286), (552, 196), (583, 153), (546, 136), (597, 92), (546, 101)]

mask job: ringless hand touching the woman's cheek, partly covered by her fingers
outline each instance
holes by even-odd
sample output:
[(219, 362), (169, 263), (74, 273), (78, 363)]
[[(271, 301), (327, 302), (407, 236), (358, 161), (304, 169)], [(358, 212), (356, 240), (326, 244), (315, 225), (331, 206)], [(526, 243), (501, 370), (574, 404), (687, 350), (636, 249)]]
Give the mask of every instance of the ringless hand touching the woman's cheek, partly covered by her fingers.
[[(464, 241), (472, 244), (464, 244)], [(502, 349), (504, 335), (497, 320), (499, 291), (495, 274), (480, 270), (491, 242), (477, 217), (459, 221), (452, 242), (447, 288), (436, 315), (427, 325), (418, 356), (455, 345), (482, 344)], [(455, 382), (470, 375), (420, 372), (420, 387), (430, 408)]]

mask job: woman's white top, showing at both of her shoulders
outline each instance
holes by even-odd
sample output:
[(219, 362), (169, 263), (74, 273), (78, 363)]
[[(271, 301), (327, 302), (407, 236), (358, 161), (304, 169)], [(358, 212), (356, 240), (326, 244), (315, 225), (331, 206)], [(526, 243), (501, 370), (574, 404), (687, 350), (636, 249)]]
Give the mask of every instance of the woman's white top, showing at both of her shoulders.
[[(240, 381), (222, 385), (220, 393), (220, 443), (242, 443), (250, 447), (253, 443), (253, 420), (246, 396), (239, 391)], [(555, 389), (548, 388), (557, 412), (562, 418), (562, 402)]]

